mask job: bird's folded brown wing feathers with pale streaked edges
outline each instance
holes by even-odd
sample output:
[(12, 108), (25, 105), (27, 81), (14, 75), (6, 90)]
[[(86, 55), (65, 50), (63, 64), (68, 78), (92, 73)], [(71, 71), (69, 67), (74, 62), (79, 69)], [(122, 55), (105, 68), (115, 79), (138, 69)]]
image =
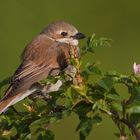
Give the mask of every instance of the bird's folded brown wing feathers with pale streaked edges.
[(50, 66), (38, 66), (32, 61), (25, 65), (21, 64), (13, 76), (4, 98), (26, 91), (32, 84), (47, 77), (50, 69)]

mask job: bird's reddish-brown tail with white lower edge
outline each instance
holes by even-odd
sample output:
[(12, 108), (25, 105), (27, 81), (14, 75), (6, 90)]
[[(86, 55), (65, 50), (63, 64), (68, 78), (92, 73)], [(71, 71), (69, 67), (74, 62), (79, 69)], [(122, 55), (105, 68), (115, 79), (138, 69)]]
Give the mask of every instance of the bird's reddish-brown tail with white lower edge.
[(14, 105), (15, 103), (23, 100), (25, 97), (31, 95), (32, 93), (34, 93), (36, 91), (36, 89), (31, 89), (31, 90), (27, 90), (26, 92), (23, 93), (19, 93), (16, 94), (14, 96), (8, 97), (8, 98), (3, 98), (0, 101), (0, 114), (4, 111), (6, 111), (6, 109), (12, 105)]

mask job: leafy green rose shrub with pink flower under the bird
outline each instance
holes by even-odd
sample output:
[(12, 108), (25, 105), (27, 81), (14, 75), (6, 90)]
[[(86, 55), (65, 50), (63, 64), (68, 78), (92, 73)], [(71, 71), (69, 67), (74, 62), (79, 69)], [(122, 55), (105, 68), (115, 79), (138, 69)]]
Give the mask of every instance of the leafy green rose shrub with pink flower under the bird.
[[(140, 140), (140, 66), (134, 63), (134, 73), (129, 75), (104, 72), (94, 60), (81, 68), (86, 55), (94, 54), (98, 47), (109, 46), (110, 41), (93, 34), (80, 48), (80, 60), (71, 54), (71, 64), (76, 68), (74, 76), (62, 72), (60, 76), (39, 82), (40, 85), (55, 85), (61, 80), (63, 84), (58, 91), (41, 99), (29, 97), (20, 104), (20, 109), (15, 105), (1, 114), (0, 139), (54, 140), (55, 134), (49, 126), (75, 113), (79, 117), (76, 131), (80, 140), (85, 140), (96, 124), (102, 125), (102, 114), (111, 118), (118, 128), (115, 134), (118, 139), (128, 140), (133, 135)], [(95, 75), (98, 76), (94, 78)], [(4, 89), (9, 81), (10, 78), (1, 80), (0, 89)], [(127, 88), (127, 98), (121, 97), (116, 85)]]

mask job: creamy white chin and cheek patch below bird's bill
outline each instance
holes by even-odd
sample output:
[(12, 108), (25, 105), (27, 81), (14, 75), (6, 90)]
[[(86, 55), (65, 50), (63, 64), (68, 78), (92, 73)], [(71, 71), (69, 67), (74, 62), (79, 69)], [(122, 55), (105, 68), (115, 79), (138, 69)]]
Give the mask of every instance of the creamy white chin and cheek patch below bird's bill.
[(79, 43), (77, 39), (73, 39), (73, 38), (61, 38), (61, 39), (57, 39), (56, 41), (61, 43), (67, 43), (72, 46), (77, 46)]

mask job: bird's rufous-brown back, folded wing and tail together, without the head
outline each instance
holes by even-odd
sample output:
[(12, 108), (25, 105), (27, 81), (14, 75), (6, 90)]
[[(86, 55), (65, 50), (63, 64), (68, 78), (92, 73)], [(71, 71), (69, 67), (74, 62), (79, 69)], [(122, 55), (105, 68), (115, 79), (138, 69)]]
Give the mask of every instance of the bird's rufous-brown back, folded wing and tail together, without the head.
[(32, 84), (47, 77), (52, 69), (60, 67), (57, 59), (61, 55), (61, 51), (57, 45), (57, 43), (51, 45), (49, 40), (42, 36), (33, 40), (25, 48), (22, 63), (13, 75), (11, 85), (0, 101), (0, 113), (30, 95), (31, 93), (26, 91), (29, 91)]

